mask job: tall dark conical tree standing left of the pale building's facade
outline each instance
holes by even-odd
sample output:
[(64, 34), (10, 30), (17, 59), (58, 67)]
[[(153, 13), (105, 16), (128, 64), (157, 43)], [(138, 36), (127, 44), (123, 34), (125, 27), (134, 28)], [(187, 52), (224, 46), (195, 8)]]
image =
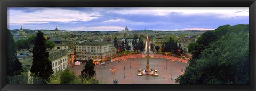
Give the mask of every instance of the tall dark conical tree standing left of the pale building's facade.
[(49, 81), (49, 77), (52, 75), (52, 62), (49, 61), (49, 52), (46, 51), (46, 39), (41, 31), (38, 31), (33, 46), (33, 62), (30, 72), (35, 76), (42, 78), (46, 83)]

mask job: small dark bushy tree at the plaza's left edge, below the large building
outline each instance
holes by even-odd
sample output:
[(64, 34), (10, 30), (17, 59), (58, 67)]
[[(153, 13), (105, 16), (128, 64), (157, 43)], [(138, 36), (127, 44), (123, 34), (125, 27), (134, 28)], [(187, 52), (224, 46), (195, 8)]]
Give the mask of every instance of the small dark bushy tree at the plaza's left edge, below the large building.
[(84, 69), (81, 71), (82, 80), (90, 79), (91, 77), (94, 77), (94, 75), (95, 75), (95, 71), (94, 71), (93, 60), (89, 59), (86, 62)]

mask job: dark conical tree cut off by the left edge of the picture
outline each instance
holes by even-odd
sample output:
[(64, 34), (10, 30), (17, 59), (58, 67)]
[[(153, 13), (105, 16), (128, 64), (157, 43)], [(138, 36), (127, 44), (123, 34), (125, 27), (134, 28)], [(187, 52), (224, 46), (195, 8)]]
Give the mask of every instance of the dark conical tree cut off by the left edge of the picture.
[(16, 56), (16, 48), (10, 30), (7, 30), (7, 75), (19, 75), (23, 71), (22, 64)]

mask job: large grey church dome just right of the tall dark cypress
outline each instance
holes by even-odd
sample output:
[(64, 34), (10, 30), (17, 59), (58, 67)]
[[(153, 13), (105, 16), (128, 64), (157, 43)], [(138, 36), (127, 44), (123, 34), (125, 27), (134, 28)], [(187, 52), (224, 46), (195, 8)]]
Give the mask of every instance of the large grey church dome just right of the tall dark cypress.
[(52, 41), (55, 44), (67, 44), (67, 40), (60, 37), (60, 35), (53, 35), (49, 41)]

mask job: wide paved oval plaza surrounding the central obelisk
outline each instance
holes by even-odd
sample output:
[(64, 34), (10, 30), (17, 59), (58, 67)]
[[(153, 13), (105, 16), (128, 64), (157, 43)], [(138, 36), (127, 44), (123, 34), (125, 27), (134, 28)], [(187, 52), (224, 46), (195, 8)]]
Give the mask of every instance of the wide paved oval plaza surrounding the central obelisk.
[[(118, 62), (120, 61), (120, 62)], [(131, 68), (130, 68), (130, 61), (131, 61)], [(125, 61), (125, 78), (124, 78), (124, 61), (117, 60), (114, 62), (106, 63), (105, 66), (103, 65), (96, 65), (94, 70), (96, 71), (95, 79), (99, 80), (102, 84), (112, 84), (112, 74), (109, 70), (110, 68), (114, 67), (116, 70), (114, 71), (114, 80), (118, 80), (118, 84), (175, 84), (175, 79), (177, 76), (181, 75), (181, 69), (185, 69), (188, 64), (173, 61), (173, 65), (170, 60), (167, 60), (167, 69), (166, 66), (166, 59), (162, 58), (154, 58), (149, 59), (150, 69), (158, 70), (157, 74), (159, 76), (150, 76), (150, 75), (143, 75), (137, 76), (139, 73), (139, 69), (146, 69), (147, 59), (143, 58), (133, 58), (126, 59)], [(83, 69), (85, 64), (79, 66), (68, 67), (70, 71), (75, 71), (76, 76), (81, 74), (81, 70)], [(173, 66), (173, 68), (171, 67)], [(171, 80), (171, 68), (172, 68), (172, 80)]]

